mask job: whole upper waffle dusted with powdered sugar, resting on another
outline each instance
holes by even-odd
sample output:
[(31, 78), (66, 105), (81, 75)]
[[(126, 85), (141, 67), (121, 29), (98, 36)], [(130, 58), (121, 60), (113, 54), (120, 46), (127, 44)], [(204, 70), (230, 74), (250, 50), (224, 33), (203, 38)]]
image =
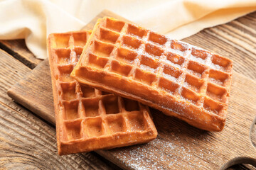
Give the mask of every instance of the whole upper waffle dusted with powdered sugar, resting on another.
[(103, 18), (71, 77), (209, 131), (223, 130), (233, 62), (132, 23)]

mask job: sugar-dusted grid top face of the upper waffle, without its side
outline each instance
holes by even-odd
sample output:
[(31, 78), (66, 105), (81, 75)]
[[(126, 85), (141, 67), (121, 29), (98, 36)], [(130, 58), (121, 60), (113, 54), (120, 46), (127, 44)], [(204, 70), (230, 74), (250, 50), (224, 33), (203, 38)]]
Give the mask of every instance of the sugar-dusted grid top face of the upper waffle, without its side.
[(166, 91), (184, 103), (181, 107), (195, 106), (225, 117), (232, 62), (185, 42), (132, 23), (104, 18), (80, 65)]

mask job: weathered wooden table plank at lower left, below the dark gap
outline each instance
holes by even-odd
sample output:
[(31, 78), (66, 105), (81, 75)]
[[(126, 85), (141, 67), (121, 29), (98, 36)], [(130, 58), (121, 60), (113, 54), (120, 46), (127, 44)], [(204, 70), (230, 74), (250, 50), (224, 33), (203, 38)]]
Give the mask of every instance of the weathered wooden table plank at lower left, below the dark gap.
[(6, 94), (31, 69), (2, 50), (0, 61), (0, 169), (116, 168), (95, 153), (59, 157), (55, 128), (11, 101)]

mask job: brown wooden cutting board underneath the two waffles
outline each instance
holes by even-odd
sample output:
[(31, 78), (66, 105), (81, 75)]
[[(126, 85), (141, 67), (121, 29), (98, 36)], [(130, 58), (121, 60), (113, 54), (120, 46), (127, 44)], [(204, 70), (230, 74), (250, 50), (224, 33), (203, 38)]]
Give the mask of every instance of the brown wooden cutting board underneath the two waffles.
[[(85, 28), (92, 29), (97, 18), (112, 16), (100, 13)], [(256, 150), (250, 140), (255, 124), (256, 83), (234, 72), (228, 118), (222, 132), (206, 132), (181, 120), (151, 109), (159, 132), (156, 140), (98, 154), (124, 169), (225, 169), (233, 164), (256, 166)], [(8, 91), (9, 96), (54, 125), (53, 96), (48, 60), (41, 62), (27, 77)]]

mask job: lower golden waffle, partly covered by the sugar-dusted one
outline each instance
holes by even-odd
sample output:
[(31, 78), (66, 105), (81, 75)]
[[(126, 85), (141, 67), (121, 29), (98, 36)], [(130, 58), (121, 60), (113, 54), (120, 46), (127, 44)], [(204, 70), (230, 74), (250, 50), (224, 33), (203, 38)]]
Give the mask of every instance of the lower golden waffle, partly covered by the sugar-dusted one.
[(148, 107), (80, 86), (70, 77), (89, 35), (80, 31), (48, 37), (60, 155), (149, 142), (157, 135)]

